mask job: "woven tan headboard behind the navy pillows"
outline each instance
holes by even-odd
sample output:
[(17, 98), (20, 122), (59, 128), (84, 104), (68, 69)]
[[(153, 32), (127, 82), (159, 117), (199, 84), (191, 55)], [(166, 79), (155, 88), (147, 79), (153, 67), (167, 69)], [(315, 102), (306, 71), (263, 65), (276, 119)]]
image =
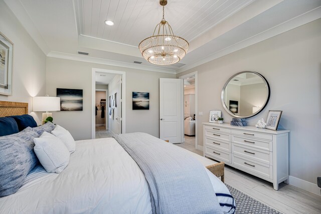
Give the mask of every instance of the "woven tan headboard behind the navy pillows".
[(0, 101), (0, 117), (28, 114), (28, 103)]

